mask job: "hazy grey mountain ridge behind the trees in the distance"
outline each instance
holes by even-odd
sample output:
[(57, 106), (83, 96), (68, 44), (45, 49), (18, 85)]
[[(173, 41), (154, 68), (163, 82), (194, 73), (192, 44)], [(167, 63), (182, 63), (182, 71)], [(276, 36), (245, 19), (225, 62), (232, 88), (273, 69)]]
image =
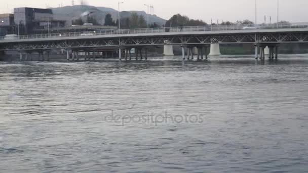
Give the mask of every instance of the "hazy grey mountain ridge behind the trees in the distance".
[[(78, 5), (51, 9), (56, 19), (66, 20), (68, 25), (71, 25), (72, 20), (82, 17), (82, 14), (85, 12), (91, 12), (91, 16), (94, 17), (96, 21), (102, 25), (105, 23), (105, 16), (107, 14), (111, 14), (114, 21), (117, 21), (118, 19), (118, 11), (106, 7)], [(147, 19), (147, 14), (144, 11), (123, 11), (121, 12), (121, 18), (130, 17), (132, 13), (142, 15), (145, 20)], [(86, 17), (84, 16), (83, 18), (85, 19)], [(149, 15), (149, 23), (157, 23), (163, 26), (165, 25), (166, 20), (156, 15)]]

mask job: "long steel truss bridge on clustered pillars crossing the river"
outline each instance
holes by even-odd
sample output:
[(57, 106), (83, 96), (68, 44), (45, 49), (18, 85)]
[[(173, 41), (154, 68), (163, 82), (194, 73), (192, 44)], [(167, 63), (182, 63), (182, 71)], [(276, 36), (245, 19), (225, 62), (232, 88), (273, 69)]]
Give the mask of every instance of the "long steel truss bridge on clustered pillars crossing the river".
[[(253, 44), (255, 58), (264, 60), (265, 47), (270, 48), (269, 58), (278, 58), (279, 44), (308, 42), (308, 23), (266, 24), (266, 25), (208, 25), (191, 27), (165, 27), (144, 29), (121, 29), (91, 32), (70, 32), (36, 35), (19, 35), (16, 38), (0, 37), (0, 51), (18, 51), (20, 58), (32, 52), (49, 56), (51, 50), (64, 50), (66, 59), (79, 59), (83, 52), (85, 60), (95, 59), (103, 50), (118, 50), (119, 59), (128, 56), (131, 49), (136, 50), (142, 59), (142, 50), (147, 59), (147, 49), (156, 46), (182, 47), (182, 57), (194, 58), (197, 48), (198, 59), (207, 59), (207, 47), (219, 49), (220, 44)], [(216, 50), (217, 51), (217, 50)], [(187, 54), (185, 54), (185, 52)], [(100, 54), (101, 53), (101, 54)]]

